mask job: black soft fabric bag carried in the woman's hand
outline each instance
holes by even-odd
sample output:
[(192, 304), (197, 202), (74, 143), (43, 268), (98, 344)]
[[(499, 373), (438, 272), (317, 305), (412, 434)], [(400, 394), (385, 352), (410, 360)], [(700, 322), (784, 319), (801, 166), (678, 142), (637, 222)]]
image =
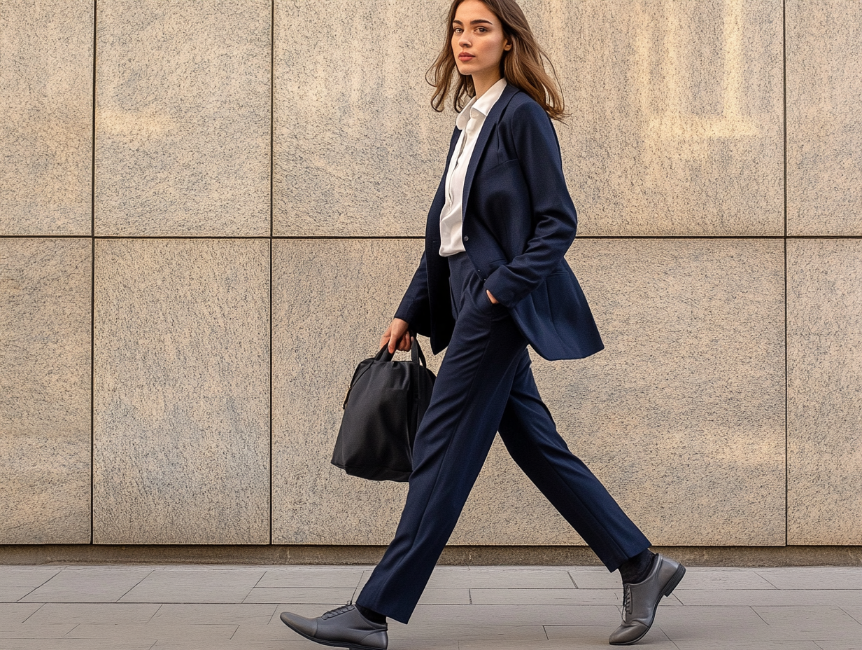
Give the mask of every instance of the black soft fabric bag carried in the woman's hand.
[(359, 363), (344, 399), (332, 464), (371, 481), (407, 481), (434, 379), (415, 339), (410, 361), (392, 361), (383, 347)]

